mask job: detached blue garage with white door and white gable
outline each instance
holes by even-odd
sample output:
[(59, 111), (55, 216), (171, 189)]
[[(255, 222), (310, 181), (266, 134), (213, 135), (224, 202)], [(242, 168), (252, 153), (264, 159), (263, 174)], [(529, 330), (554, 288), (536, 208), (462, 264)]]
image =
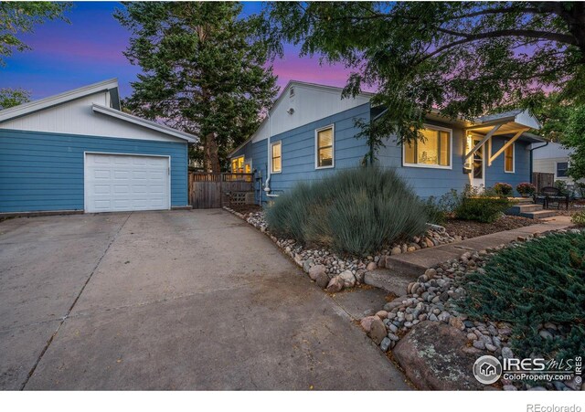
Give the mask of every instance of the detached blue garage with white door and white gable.
[(0, 214), (187, 205), (192, 135), (120, 110), (102, 81), (0, 111)]

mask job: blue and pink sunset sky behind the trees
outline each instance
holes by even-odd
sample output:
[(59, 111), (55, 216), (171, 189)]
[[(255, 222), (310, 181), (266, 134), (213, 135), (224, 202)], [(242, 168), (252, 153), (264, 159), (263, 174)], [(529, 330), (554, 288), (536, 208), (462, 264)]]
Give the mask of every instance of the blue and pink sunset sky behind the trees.
[[(122, 97), (132, 92), (130, 82), (140, 69), (122, 55), (130, 33), (112, 12), (117, 2), (79, 2), (67, 13), (70, 24), (52, 21), (20, 36), (32, 48), (15, 52), (0, 67), (0, 88), (23, 88), (33, 99), (71, 90), (103, 79), (118, 78)], [(260, 2), (244, 4), (244, 15), (259, 12)], [(318, 58), (299, 58), (298, 48), (285, 47), (285, 57), (274, 62), (278, 84), (291, 79), (344, 86), (348, 70), (320, 66)]]

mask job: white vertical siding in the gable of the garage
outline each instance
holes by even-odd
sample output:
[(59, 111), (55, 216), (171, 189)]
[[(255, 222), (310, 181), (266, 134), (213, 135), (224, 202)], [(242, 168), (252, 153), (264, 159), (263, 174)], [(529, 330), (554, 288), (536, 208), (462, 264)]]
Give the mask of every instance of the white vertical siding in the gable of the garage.
[(37, 111), (26, 116), (0, 123), (0, 129), (31, 132), (82, 134), (86, 136), (118, 137), (162, 142), (185, 142), (161, 132), (113, 119), (91, 109), (93, 103), (110, 106), (108, 91), (91, 94), (78, 100)]

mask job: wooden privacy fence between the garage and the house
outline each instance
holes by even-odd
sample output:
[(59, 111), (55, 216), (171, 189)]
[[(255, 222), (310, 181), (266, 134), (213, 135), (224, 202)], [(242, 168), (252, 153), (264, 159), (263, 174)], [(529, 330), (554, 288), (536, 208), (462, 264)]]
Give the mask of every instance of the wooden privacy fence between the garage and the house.
[(189, 172), (189, 205), (194, 209), (229, 206), (238, 198), (254, 193), (254, 174)]

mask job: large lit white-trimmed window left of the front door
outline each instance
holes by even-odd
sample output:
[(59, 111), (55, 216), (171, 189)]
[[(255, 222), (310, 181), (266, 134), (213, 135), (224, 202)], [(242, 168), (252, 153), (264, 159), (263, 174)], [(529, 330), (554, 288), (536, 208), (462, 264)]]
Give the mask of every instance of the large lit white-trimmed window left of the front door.
[(402, 145), (405, 166), (452, 168), (452, 130), (425, 124), (420, 131), (424, 140)]

